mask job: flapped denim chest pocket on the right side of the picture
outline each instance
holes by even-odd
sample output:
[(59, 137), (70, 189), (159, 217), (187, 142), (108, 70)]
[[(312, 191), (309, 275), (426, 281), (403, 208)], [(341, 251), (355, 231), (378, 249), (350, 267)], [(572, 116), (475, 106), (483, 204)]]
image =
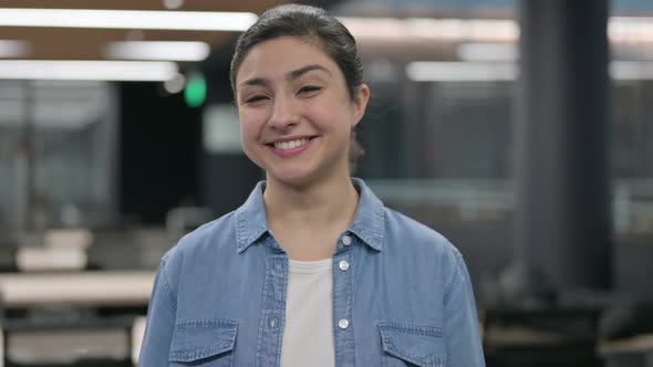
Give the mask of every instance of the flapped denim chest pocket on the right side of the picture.
[(382, 366), (446, 367), (442, 328), (402, 323), (379, 323)]

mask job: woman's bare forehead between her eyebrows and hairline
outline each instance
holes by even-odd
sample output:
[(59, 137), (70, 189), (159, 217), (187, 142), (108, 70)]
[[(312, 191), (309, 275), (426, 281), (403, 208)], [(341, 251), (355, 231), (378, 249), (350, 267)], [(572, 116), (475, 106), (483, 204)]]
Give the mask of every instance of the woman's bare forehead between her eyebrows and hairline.
[(281, 36), (263, 41), (249, 50), (236, 74), (236, 84), (250, 77), (282, 78), (305, 65), (318, 64), (331, 73), (335, 62), (321, 44), (308, 38)]

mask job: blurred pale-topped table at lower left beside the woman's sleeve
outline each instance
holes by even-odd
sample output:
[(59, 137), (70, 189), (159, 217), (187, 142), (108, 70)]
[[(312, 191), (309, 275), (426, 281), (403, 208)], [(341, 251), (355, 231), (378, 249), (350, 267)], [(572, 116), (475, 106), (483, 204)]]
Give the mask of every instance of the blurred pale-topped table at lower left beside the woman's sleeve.
[(132, 366), (154, 277), (154, 271), (0, 273), (7, 312), (0, 366)]

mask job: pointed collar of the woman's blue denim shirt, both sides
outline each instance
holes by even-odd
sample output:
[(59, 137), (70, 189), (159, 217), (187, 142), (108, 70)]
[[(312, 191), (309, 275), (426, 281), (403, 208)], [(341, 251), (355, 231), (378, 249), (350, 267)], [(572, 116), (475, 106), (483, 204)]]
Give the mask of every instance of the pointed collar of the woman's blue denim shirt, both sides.
[[(352, 178), (352, 184), (359, 191), (359, 206), (354, 222), (349, 232), (356, 235), (370, 248), (381, 251), (383, 249), (383, 202), (360, 178)], [(245, 203), (236, 210), (236, 242), (238, 252), (243, 252), (252, 243), (269, 233), (266, 206), (263, 203), (263, 189), (266, 181), (259, 181), (249, 195)]]

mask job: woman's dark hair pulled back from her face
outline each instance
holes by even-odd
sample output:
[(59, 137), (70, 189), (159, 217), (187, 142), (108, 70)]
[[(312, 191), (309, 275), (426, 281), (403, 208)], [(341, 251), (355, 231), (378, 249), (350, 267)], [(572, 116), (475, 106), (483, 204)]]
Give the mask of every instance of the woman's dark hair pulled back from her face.
[[(284, 35), (302, 36), (315, 41), (338, 64), (344, 75), (350, 98), (353, 101), (363, 84), (363, 63), (359, 57), (356, 41), (335, 18), (320, 8), (301, 4), (283, 4), (266, 11), (256, 23), (242, 33), (236, 43), (229, 78), (236, 94), (236, 74), (248, 52), (257, 44)], [(352, 129), (350, 141), (350, 170), (364, 153)]]

